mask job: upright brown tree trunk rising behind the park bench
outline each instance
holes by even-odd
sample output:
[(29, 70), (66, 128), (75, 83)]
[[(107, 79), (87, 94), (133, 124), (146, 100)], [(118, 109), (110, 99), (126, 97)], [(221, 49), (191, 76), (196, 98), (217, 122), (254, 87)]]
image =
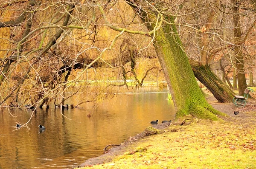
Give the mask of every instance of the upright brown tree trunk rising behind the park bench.
[[(239, 5), (240, 2), (238, 0), (233, 0), (234, 8), (233, 11), (233, 22), (234, 22), (234, 37), (235, 41), (242, 41), (241, 34), (241, 24), (240, 24), (240, 16), (239, 16)], [(238, 80), (238, 90), (239, 95), (244, 94), (244, 90), (247, 88), (245, 72), (244, 72), (244, 56), (242, 53), (241, 46), (235, 46), (235, 57), (236, 57), (236, 70), (237, 70), (237, 80)]]

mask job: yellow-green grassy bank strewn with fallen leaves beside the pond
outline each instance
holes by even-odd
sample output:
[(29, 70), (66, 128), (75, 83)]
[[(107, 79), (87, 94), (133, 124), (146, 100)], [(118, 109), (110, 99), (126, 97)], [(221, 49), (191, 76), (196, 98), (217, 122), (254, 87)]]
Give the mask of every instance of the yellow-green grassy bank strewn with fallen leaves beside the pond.
[[(251, 113), (255, 119), (255, 113)], [(241, 122), (245, 121), (245, 122)], [(109, 163), (93, 169), (253, 169), (256, 167), (256, 124), (246, 118), (221, 122), (201, 120), (187, 126), (170, 126), (125, 146)], [(170, 130), (177, 129), (177, 132)]]

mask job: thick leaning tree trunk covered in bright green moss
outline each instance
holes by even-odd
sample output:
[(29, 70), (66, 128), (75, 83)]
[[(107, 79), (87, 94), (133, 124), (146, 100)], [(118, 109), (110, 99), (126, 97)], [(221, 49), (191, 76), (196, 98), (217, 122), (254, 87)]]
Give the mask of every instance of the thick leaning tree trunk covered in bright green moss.
[[(126, 1), (137, 14), (140, 14), (140, 18), (146, 23), (148, 30), (154, 30), (155, 23), (157, 23), (157, 12), (145, 9), (147, 4), (145, 1)], [(152, 3), (154, 2), (152, 1)], [(164, 4), (160, 5), (164, 6)], [(172, 17), (164, 16), (164, 19), (174, 23)], [(176, 115), (181, 117), (190, 114), (198, 118), (217, 120), (215, 114), (224, 115), (224, 113), (213, 109), (205, 100), (182, 46), (175, 25), (163, 23), (155, 32), (154, 48), (172, 94), (177, 110)]]

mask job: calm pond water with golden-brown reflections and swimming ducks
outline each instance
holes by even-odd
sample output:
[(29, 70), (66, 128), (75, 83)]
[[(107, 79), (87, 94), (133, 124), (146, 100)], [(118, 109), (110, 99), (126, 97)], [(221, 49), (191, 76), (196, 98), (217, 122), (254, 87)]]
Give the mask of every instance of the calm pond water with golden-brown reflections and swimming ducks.
[[(37, 109), (0, 112), (0, 169), (73, 168), (86, 159), (103, 154), (108, 144), (120, 144), (142, 132), (152, 120), (173, 120), (173, 103), (167, 92), (116, 95), (103, 102), (91, 118), (90, 109)], [(71, 102), (71, 101), (70, 101)], [(62, 115), (63, 113), (67, 118)], [(38, 125), (46, 127), (39, 131)]]

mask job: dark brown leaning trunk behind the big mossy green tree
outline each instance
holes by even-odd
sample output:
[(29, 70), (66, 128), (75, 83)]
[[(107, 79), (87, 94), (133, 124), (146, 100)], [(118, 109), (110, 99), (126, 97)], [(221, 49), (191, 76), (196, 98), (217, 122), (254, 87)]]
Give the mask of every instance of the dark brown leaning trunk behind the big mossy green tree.
[(210, 90), (219, 102), (233, 101), (235, 93), (212, 72), (208, 64), (203, 66), (197, 61), (190, 60), (189, 62), (195, 77)]

